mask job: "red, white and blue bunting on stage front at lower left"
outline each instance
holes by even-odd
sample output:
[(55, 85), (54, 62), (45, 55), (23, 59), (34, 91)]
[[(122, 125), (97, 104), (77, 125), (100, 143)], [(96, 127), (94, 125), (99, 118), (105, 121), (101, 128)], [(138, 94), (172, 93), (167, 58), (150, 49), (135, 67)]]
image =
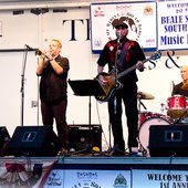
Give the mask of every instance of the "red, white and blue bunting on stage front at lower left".
[(4, 161), (0, 165), (0, 187), (42, 188), (56, 160)]

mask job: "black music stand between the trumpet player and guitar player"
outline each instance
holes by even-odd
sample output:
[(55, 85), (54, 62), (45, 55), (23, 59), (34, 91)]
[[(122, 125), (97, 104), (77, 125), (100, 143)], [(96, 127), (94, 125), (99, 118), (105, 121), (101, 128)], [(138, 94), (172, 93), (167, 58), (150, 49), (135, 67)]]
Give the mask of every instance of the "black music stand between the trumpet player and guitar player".
[[(88, 128), (91, 133), (91, 96), (105, 95), (106, 93), (97, 80), (69, 80), (67, 83), (73, 90), (74, 95), (88, 96)], [(91, 144), (91, 140), (88, 142)]]

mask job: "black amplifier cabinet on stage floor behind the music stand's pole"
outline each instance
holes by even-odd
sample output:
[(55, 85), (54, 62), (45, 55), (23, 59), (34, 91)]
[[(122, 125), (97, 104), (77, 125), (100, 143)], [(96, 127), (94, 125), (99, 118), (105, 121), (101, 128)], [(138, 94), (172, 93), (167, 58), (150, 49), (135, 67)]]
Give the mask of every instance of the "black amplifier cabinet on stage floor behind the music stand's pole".
[(102, 126), (101, 125), (70, 125), (70, 149), (85, 150), (90, 153), (91, 147), (102, 149)]

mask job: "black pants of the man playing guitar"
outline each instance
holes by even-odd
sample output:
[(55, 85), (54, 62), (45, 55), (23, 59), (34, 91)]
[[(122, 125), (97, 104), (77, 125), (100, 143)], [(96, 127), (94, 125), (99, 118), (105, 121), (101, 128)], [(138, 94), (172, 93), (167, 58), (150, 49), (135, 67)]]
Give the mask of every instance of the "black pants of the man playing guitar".
[(128, 129), (128, 147), (138, 147), (138, 108), (137, 108), (137, 85), (125, 85), (123, 88), (115, 92), (108, 101), (109, 123), (114, 137), (114, 146), (121, 150), (125, 150), (125, 142), (123, 137), (122, 113), (123, 104), (125, 115), (127, 117)]

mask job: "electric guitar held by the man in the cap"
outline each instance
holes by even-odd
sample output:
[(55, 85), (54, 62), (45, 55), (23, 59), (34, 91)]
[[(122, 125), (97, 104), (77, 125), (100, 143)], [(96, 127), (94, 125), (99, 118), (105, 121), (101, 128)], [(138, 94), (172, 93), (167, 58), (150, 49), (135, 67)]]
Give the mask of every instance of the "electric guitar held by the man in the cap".
[[(148, 59), (144, 60), (142, 63), (146, 63), (149, 60), (157, 60), (160, 56), (161, 56), (161, 53), (156, 52), (156, 53), (152, 54)], [(140, 64), (137, 63), (137, 64), (130, 66), (129, 69), (118, 73), (116, 76), (115, 76), (114, 70), (112, 70), (109, 73), (105, 73), (105, 72), (100, 73), (95, 77), (95, 80), (97, 80), (100, 82), (101, 86), (103, 87), (103, 91), (105, 92), (105, 95), (95, 96), (95, 98), (101, 102), (107, 102), (114, 94), (115, 90), (119, 90), (123, 86), (123, 84), (119, 81), (121, 77), (125, 76), (133, 70), (136, 70), (137, 67), (139, 67), (139, 65)], [(104, 81), (105, 81), (105, 83), (104, 83)]]

